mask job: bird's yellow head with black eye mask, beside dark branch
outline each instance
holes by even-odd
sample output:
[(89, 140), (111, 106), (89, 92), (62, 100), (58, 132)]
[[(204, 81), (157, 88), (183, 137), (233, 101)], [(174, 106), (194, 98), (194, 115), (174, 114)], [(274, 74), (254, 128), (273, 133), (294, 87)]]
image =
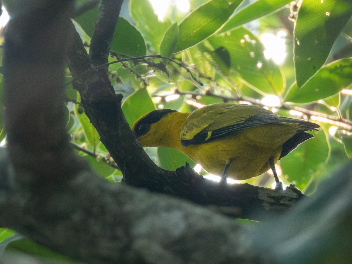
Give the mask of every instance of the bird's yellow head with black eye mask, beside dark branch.
[(177, 112), (173, 109), (158, 109), (140, 117), (132, 126), (132, 131), (143, 147), (163, 146), (165, 126), (160, 123), (166, 115)]

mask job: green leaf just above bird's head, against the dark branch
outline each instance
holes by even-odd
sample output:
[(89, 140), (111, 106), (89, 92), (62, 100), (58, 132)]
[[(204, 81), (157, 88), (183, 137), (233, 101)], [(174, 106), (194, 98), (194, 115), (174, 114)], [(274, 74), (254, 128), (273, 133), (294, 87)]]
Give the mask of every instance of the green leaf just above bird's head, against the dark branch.
[(130, 127), (141, 116), (155, 110), (155, 106), (146, 89), (139, 89), (128, 96), (122, 104), (122, 112)]

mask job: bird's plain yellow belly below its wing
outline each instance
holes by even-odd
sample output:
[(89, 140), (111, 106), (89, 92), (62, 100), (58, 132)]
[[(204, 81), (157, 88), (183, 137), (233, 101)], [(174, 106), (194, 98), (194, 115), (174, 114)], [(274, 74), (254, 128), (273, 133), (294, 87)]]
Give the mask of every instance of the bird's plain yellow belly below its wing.
[(226, 162), (232, 159), (227, 176), (246, 180), (269, 170), (269, 158), (273, 156), (275, 163), (283, 143), (295, 133), (296, 130), (285, 125), (265, 125), (238, 131), (221, 140), (182, 147), (180, 150), (215, 175), (221, 175)]

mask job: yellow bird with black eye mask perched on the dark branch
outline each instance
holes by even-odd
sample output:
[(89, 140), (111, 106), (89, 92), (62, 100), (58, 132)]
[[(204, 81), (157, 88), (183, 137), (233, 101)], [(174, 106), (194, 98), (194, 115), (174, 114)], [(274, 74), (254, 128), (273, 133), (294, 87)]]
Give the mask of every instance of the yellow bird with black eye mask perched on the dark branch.
[[(207, 172), (246, 180), (272, 169), (275, 163), (313, 135), (319, 125), (279, 116), (262, 107), (217, 103), (193, 112), (159, 109), (132, 127), (143, 147), (171, 147), (199, 163)], [(282, 188), (282, 187), (281, 187)]]

